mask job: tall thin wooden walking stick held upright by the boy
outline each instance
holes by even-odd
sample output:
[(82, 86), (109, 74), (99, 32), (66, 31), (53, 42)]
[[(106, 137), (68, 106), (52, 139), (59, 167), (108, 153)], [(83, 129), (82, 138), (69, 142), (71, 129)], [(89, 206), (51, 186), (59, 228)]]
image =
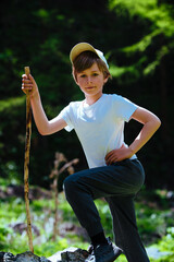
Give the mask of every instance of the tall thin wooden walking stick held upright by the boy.
[[(29, 67), (25, 67), (25, 74), (29, 75)], [(29, 148), (30, 148), (30, 135), (32, 135), (32, 108), (30, 108), (30, 97), (29, 92), (26, 94), (26, 138), (25, 138), (25, 159), (24, 159), (24, 195), (25, 195), (25, 206), (26, 206), (26, 218), (27, 218), (27, 235), (29, 250), (34, 253), (33, 247), (33, 236), (32, 236), (32, 222), (29, 212)]]

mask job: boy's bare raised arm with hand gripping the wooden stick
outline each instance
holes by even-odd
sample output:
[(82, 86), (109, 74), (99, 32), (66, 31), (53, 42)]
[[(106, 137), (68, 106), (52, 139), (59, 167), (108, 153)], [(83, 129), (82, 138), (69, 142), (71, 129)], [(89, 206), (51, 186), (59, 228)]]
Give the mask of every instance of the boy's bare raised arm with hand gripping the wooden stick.
[(22, 90), (24, 93), (26, 93), (26, 91), (28, 90), (30, 92), (30, 105), (33, 109), (35, 123), (39, 133), (42, 135), (47, 135), (58, 132), (64, 127), (66, 127), (66, 122), (63, 119), (59, 119), (58, 117), (52, 119), (51, 121), (48, 120), (42, 108), (38, 86), (30, 74), (28, 78), (25, 74), (23, 75)]

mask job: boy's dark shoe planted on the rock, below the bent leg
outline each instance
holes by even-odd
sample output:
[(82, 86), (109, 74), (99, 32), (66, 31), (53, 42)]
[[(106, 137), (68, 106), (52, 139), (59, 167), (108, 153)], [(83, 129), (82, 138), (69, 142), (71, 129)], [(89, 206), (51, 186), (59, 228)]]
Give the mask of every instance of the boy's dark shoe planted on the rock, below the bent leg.
[(88, 250), (90, 254), (85, 262), (113, 262), (121, 253), (123, 253), (123, 250), (112, 243), (110, 238), (107, 240), (108, 243), (101, 243), (95, 248), (90, 246)]

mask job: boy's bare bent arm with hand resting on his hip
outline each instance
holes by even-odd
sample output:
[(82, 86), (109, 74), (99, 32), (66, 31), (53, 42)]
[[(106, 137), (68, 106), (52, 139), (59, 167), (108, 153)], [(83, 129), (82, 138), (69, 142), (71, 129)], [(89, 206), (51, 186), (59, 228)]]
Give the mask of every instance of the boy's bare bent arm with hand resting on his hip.
[(125, 147), (123, 145), (119, 150), (109, 152), (105, 156), (107, 165), (130, 158), (148, 142), (148, 140), (161, 126), (160, 119), (154, 114), (141, 107), (138, 107), (135, 110), (135, 112), (132, 115), (132, 119), (135, 119), (136, 121), (142, 123), (142, 129), (140, 130), (138, 136), (129, 145), (129, 147)]

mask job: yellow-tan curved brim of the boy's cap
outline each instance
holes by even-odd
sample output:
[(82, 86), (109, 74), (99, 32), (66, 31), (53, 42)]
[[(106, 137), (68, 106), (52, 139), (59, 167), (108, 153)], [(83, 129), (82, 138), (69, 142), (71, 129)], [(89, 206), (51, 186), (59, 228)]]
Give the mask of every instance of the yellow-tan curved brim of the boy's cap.
[(88, 43), (79, 43), (75, 45), (70, 52), (71, 62), (73, 63), (74, 59), (83, 51), (92, 51), (98, 56), (96, 49), (91, 45)]

